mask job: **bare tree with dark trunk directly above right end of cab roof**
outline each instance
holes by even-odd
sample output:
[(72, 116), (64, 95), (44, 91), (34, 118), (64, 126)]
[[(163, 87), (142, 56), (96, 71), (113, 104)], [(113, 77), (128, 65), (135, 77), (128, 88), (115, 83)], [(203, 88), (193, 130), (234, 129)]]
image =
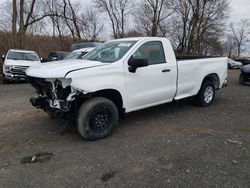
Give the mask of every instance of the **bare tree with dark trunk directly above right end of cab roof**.
[(138, 30), (147, 36), (157, 36), (163, 30), (164, 21), (173, 14), (171, 1), (168, 0), (145, 0), (141, 1), (135, 9), (135, 19)]

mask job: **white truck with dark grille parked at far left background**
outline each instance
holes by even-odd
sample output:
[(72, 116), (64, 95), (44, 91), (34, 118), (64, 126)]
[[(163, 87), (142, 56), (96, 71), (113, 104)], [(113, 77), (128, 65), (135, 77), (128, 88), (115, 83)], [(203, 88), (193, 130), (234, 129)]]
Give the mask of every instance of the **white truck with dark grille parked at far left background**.
[(39, 56), (34, 51), (10, 49), (7, 55), (2, 56), (3, 83), (25, 80), (25, 71), (32, 65), (41, 63)]

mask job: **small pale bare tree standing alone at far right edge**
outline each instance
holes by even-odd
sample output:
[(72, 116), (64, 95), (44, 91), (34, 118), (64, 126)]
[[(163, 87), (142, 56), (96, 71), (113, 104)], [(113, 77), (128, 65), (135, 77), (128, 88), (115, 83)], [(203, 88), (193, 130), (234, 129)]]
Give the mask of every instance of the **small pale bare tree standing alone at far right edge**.
[(250, 23), (245, 19), (241, 20), (236, 26), (233, 23), (230, 24), (232, 37), (237, 46), (237, 57), (240, 57), (241, 53), (244, 52), (245, 44), (249, 41), (249, 27)]

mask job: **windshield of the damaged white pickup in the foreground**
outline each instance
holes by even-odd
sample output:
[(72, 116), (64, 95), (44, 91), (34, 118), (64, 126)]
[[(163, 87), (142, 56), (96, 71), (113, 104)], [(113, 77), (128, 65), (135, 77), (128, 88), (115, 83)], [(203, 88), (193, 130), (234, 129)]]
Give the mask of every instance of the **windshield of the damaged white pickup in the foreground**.
[(112, 41), (97, 47), (83, 59), (113, 63), (120, 60), (137, 41)]

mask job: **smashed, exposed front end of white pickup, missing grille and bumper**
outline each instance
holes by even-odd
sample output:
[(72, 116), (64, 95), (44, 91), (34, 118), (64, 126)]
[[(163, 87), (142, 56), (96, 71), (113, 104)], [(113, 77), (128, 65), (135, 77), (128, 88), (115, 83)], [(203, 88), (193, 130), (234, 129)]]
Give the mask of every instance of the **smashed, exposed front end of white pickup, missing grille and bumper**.
[(71, 79), (28, 79), (38, 93), (37, 97), (30, 99), (34, 107), (43, 109), (52, 117), (65, 117), (72, 112), (73, 103), (81, 92), (70, 86)]

